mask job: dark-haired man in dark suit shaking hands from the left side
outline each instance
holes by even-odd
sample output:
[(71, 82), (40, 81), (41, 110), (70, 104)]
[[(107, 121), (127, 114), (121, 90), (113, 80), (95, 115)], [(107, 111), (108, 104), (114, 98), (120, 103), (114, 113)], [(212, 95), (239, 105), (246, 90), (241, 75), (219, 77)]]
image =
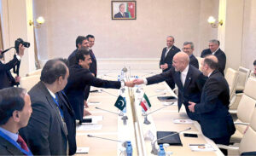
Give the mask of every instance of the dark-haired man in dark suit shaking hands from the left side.
[(65, 93), (73, 107), (76, 119), (79, 119), (81, 124), (84, 116), (84, 87), (86, 85), (119, 89), (125, 86), (132, 87), (134, 84), (132, 82), (108, 81), (94, 77), (89, 71), (91, 60), (88, 49), (80, 49), (76, 54), (76, 59), (76, 64), (69, 66), (70, 77), (65, 87)]

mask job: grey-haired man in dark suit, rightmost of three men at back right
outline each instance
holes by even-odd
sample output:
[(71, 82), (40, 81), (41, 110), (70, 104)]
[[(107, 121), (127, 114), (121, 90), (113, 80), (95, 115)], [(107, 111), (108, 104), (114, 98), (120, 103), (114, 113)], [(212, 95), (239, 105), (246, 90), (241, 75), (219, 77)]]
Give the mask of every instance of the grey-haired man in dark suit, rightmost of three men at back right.
[(219, 41), (217, 39), (212, 39), (209, 41), (209, 49), (204, 49), (201, 52), (201, 57), (206, 55), (215, 55), (218, 58), (218, 71), (224, 75), (224, 70), (226, 66), (226, 55), (219, 48)]

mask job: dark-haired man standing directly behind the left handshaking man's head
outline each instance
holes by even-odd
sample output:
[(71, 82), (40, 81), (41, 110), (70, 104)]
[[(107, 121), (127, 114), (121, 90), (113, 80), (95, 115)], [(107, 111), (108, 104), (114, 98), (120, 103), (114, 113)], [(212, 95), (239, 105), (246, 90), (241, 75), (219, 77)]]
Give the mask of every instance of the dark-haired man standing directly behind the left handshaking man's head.
[(83, 36), (78, 36), (76, 39), (76, 47), (71, 55), (68, 56), (67, 60), (69, 63), (69, 66), (72, 66), (76, 63), (76, 53), (78, 52), (79, 49), (86, 49), (89, 47), (89, 40), (88, 38), (85, 38)]

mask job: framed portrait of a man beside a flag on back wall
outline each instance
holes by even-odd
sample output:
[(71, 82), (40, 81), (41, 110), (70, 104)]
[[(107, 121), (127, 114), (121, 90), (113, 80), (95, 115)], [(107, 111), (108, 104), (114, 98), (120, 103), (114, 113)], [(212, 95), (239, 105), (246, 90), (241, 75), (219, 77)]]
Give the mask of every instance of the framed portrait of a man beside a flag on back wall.
[(111, 1), (112, 20), (136, 20), (136, 1)]

